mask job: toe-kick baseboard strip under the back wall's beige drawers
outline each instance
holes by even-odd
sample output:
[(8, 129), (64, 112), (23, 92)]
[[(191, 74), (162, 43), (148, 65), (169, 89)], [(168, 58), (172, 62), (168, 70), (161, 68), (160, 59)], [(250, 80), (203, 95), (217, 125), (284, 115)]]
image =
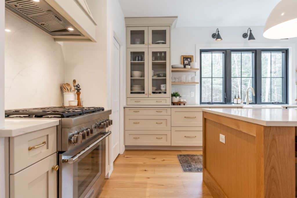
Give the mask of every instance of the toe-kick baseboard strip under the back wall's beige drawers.
[(125, 146), (126, 150), (200, 150), (202, 146)]

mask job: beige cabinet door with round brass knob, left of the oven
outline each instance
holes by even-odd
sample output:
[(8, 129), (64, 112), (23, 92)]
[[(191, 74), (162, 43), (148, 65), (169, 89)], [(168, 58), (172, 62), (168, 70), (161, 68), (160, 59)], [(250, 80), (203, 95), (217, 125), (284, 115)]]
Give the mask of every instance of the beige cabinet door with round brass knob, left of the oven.
[[(22, 163), (22, 161), (19, 161)], [(10, 197), (57, 197), (57, 154), (10, 175)]]

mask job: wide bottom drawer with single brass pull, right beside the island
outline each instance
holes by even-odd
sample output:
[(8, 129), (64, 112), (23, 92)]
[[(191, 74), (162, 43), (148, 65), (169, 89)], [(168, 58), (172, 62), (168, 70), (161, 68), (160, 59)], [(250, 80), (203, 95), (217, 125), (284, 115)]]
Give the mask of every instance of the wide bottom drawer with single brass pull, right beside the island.
[(172, 146), (202, 146), (202, 127), (171, 127)]

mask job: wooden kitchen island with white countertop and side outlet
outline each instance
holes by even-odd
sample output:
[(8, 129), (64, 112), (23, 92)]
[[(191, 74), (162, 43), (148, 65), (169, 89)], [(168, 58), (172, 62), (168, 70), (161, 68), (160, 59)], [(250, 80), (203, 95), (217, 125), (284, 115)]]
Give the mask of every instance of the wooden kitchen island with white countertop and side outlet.
[(295, 197), (296, 109), (203, 109), (203, 181), (213, 197)]

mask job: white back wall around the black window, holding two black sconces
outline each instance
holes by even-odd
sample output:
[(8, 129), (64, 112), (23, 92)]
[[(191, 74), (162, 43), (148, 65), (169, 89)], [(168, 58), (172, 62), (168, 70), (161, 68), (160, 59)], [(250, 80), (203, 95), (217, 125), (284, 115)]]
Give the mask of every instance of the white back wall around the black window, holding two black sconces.
[[(287, 47), (291, 53), (289, 99), (290, 103), (295, 103), (297, 39), (266, 39), (262, 36), (263, 27), (251, 27), (256, 40), (248, 41), (247, 39), (242, 38), (242, 34), (247, 32), (248, 28), (249, 27), (219, 27), (223, 39), (222, 41), (215, 41), (211, 37), (211, 34), (216, 31), (216, 27), (175, 28), (171, 32), (171, 64), (180, 64), (181, 55), (194, 55), (194, 60), (198, 62), (199, 66), (200, 49)], [(197, 72), (197, 76), (199, 77), (199, 72)], [(199, 103), (199, 87), (199, 85), (173, 85), (172, 91), (180, 91), (189, 104), (195, 104)], [(196, 90), (195, 97), (190, 97), (190, 91), (193, 90)]]

